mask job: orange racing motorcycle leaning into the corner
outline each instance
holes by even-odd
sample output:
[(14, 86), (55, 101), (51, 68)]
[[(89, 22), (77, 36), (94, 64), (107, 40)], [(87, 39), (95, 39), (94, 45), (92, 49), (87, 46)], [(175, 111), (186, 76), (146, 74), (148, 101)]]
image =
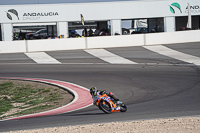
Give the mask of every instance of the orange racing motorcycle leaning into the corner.
[(114, 101), (107, 94), (100, 95), (99, 99), (96, 101), (96, 106), (99, 107), (100, 110), (105, 112), (106, 114), (110, 114), (111, 112), (126, 112), (127, 107), (121, 101)]

